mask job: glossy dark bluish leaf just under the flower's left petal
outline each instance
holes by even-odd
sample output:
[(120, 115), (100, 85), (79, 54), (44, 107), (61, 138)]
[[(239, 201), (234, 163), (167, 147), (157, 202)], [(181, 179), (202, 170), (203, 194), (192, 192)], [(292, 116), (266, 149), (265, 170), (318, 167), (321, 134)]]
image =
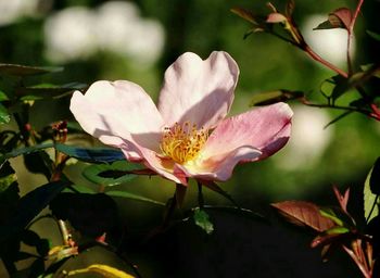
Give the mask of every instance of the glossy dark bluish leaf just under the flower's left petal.
[(56, 143), (55, 149), (68, 156), (90, 163), (110, 163), (125, 160), (121, 150), (110, 148), (78, 148), (68, 144)]

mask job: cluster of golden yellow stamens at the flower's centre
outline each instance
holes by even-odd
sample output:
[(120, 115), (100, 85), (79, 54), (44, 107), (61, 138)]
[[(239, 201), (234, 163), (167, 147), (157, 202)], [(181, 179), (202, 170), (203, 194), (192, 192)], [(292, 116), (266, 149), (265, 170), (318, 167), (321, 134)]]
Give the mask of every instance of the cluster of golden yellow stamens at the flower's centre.
[(160, 148), (165, 156), (183, 164), (199, 154), (207, 138), (208, 130), (203, 127), (198, 129), (189, 122), (176, 123), (173, 127), (165, 127)]

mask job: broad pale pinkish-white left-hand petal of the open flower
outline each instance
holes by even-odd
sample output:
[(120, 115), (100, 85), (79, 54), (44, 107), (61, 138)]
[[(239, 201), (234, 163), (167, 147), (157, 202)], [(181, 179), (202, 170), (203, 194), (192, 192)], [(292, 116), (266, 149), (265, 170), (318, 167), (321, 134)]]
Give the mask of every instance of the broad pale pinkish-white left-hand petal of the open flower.
[(163, 119), (151, 98), (129, 81), (97, 81), (86, 94), (75, 91), (71, 111), (85, 131), (106, 144), (128, 141), (131, 157), (139, 146), (157, 150)]

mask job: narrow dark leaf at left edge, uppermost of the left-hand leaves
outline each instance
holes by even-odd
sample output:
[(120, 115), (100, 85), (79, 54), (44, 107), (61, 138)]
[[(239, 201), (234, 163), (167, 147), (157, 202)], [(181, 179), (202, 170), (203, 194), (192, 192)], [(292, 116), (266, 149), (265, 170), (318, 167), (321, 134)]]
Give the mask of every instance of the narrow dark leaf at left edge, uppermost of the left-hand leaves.
[(0, 63), (0, 75), (28, 76), (48, 73), (62, 72), (63, 67), (56, 66), (28, 66), (17, 64), (2, 64)]

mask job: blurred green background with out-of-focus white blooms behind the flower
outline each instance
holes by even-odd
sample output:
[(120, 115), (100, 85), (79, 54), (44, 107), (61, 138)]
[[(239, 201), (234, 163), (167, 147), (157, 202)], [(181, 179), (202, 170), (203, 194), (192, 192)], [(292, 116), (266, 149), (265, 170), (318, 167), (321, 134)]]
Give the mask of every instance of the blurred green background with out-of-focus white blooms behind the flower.
[[(322, 101), (319, 88), (324, 79), (334, 75), (331, 71), (267, 34), (254, 34), (243, 39), (250, 25), (232, 14), (230, 9), (242, 7), (266, 14), (265, 2), (0, 0), (0, 62), (60, 65), (65, 68), (62, 73), (31, 78), (30, 84), (91, 84), (99, 79), (127, 79), (139, 84), (156, 100), (164, 71), (179, 54), (191, 51), (205, 59), (213, 50), (224, 50), (238, 62), (241, 71), (231, 115), (251, 109), (249, 103), (255, 93), (276, 89), (304, 91), (311, 100)], [(280, 10), (284, 2), (274, 1)], [(320, 55), (343, 68), (345, 31), (312, 29), (333, 9), (354, 8), (355, 4), (353, 0), (296, 1), (295, 18), (306, 41)], [(365, 30), (379, 33), (375, 17), (378, 8), (379, 1), (366, 1), (359, 14), (353, 48), (355, 68), (377, 59), (373, 41)], [(344, 104), (354, 98), (355, 92), (352, 92), (340, 101)], [(325, 128), (341, 112), (306, 108), (297, 102), (290, 104), (294, 119), (288, 146), (266, 161), (240, 165), (233, 177), (220, 186), (242, 206), (261, 213), (267, 213), (270, 202), (290, 199), (331, 204), (332, 185), (342, 189), (351, 187), (356, 194), (353, 214), (360, 215), (363, 184), (380, 153), (380, 124), (353, 113)], [(55, 121), (73, 121), (68, 105), (69, 97), (54, 102), (36, 101), (31, 124), (38, 130)], [(66, 174), (91, 187), (80, 175), (85, 166), (68, 166)], [(43, 182), (42, 176), (23, 173), (21, 164), (17, 167), (24, 192)], [(174, 192), (174, 185), (161, 178), (141, 177), (119, 187), (162, 202)], [(189, 191), (186, 207), (197, 205), (195, 186), (191, 184)], [(132, 230), (144, 230), (147, 223), (148, 226), (160, 223), (161, 207), (125, 200), (117, 200), (117, 203)], [(206, 203), (219, 205), (228, 202), (214, 192), (206, 192)], [(47, 231), (41, 229), (40, 232)], [(237, 235), (239, 237), (240, 233)], [(241, 236), (240, 241), (243, 242), (245, 237), (245, 233)], [(302, 242), (302, 248), (307, 249), (307, 239)], [(318, 260), (318, 252), (313, 252), (316, 253), (314, 260)], [(149, 269), (154, 267), (147, 266)], [(149, 269), (145, 271), (152, 271)]]

